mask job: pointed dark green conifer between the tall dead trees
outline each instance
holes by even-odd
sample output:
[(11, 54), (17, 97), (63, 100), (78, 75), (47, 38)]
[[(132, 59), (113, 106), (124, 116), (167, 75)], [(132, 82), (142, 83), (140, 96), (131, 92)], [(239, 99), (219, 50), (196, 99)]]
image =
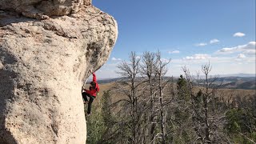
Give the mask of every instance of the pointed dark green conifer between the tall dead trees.
[[(190, 143), (192, 141), (192, 135), (190, 130), (191, 113), (190, 113), (190, 91), (188, 89), (186, 78), (180, 75), (177, 81), (178, 94), (174, 95), (176, 99), (176, 105), (171, 106), (170, 118), (166, 119), (166, 130), (170, 133), (167, 137), (167, 142), (170, 143)], [(193, 133), (193, 132), (192, 132)]]

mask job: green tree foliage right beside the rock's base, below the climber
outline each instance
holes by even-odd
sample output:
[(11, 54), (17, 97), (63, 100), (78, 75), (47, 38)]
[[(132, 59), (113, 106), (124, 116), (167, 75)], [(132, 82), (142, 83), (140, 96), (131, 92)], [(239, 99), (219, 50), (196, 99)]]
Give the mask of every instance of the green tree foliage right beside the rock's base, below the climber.
[[(118, 125), (118, 118), (113, 116), (111, 110), (110, 91), (104, 91), (101, 101), (94, 103), (92, 114), (87, 120), (87, 142), (90, 144), (112, 144), (121, 142), (123, 137), (127, 137), (127, 125)], [(85, 107), (86, 109), (87, 107)], [(118, 131), (119, 130), (119, 131)], [(121, 133), (118, 133), (121, 132)]]

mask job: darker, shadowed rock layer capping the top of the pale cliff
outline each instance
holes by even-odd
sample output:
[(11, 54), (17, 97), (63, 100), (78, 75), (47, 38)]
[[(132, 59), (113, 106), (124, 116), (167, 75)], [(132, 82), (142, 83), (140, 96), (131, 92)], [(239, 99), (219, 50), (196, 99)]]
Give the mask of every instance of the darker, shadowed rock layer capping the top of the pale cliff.
[(0, 10), (14, 10), (26, 17), (45, 19), (51, 15), (77, 13), (90, 0), (1, 0)]

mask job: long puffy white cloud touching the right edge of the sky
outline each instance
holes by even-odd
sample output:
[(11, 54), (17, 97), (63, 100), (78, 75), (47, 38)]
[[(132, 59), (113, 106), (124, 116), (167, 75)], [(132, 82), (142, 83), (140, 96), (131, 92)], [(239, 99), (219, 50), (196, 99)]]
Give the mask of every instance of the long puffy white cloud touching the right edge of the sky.
[(249, 42), (246, 45), (225, 47), (216, 51), (217, 54), (233, 54), (236, 52), (242, 52), (243, 54), (255, 54), (256, 42)]

